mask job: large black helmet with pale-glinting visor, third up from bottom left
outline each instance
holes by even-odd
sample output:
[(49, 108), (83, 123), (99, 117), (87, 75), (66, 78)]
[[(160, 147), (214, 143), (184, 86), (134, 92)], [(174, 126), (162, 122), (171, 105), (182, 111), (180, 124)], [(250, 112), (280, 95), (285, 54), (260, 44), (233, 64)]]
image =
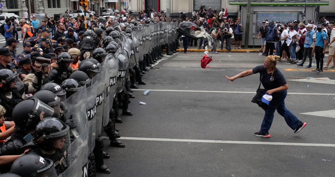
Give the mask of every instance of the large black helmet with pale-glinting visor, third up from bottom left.
[(37, 98), (23, 100), (13, 109), (14, 129), (34, 130), (43, 118), (51, 117), (53, 114), (54, 109)]

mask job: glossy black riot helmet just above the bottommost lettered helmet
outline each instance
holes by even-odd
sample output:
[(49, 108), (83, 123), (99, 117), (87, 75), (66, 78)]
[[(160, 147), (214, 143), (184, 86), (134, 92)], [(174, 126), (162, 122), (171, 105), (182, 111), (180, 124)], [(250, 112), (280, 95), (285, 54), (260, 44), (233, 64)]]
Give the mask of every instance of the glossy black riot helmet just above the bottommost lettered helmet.
[(54, 141), (69, 137), (69, 130), (70, 127), (61, 120), (49, 117), (37, 124), (32, 142), (44, 151), (62, 149), (55, 147)]

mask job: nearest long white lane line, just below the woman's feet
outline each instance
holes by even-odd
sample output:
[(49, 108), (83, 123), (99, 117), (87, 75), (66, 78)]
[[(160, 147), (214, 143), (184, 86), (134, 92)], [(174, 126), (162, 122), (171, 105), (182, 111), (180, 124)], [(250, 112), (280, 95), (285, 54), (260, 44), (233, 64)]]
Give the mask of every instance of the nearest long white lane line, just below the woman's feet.
[[(103, 138), (108, 139), (107, 136), (103, 136)], [(118, 139), (143, 140), (143, 141), (175, 141), (175, 142), (199, 142), (199, 143), (262, 144), (262, 145), (335, 147), (335, 144), (319, 144), (319, 143), (285, 143), (285, 142), (261, 142), (261, 141), (222, 141), (222, 140), (202, 140), (202, 139), (169, 139), (169, 138), (137, 138), (137, 137), (121, 137), (121, 138), (118, 138)]]

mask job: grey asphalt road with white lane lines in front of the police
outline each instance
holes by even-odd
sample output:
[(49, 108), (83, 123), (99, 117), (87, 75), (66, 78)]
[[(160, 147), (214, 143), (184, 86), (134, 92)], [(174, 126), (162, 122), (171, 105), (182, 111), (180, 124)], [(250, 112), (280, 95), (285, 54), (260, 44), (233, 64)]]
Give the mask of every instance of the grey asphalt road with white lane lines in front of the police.
[[(143, 78), (147, 84), (133, 89), (135, 98), (129, 110), (134, 115), (121, 115), (124, 123), (116, 125), (126, 147), (109, 147), (105, 139), (105, 151), (111, 155), (105, 163), (112, 174), (98, 176), (333, 175), (335, 117), (326, 117), (323, 112), (318, 116), (299, 113), (334, 109), (334, 84), (329, 83), (335, 81), (335, 72), (316, 75), (294, 64), (278, 63), (285, 77), (328, 81), (287, 78), (286, 107), (307, 126), (294, 134), (275, 113), (271, 137), (261, 138), (253, 133), (259, 131), (264, 111), (251, 102), (259, 75), (237, 79), (233, 84), (224, 76), (262, 65), (264, 57), (258, 53), (211, 54), (210, 68), (202, 69), (203, 55), (177, 53), (159, 60), (154, 66), (159, 69), (146, 72)], [(144, 90), (151, 91), (143, 95)]]

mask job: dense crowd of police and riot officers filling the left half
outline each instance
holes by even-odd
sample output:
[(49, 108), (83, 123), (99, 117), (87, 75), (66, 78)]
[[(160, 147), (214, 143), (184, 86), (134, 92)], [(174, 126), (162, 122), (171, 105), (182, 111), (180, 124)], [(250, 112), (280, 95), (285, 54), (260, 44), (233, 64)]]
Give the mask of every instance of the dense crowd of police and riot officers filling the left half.
[[(0, 48), (0, 173), (10, 172), (22, 177), (40, 173), (40, 176), (53, 177), (66, 172), (70, 162), (67, 143), (75, 141), (75, 136), (68, 137), (69, 132), (79, 132), (83, 128), (75, 121), (78, 115), (68, 117), (71, 114), (69, 99), (79, 102), (82, 97), (71, 96), (85, 88), (87, 92), (89, 88), (93, 90), (93, 87), (96, 98), (87, 98), (87, 107), (83, 108), (87, 115), (84, 113), (79, 120), (86, 115), (88, 122), (94, 115), (101, 114), (100, 118), (104, 117), (107, 122), (103, 125), (96, 118), (95, 146), (87, 157), (88, 176), (95, 176), (96, 171), (111, 173), (104, 163), (110, 155), (103, 151), (101, 130), (109, 137), (110, 146), (125, 147), (118, 139), (120, 134), (115, 125), (123, 123), (119, 109), (123, 115), (132, 116), (128, 109), (130, 98), (135, 97), (131, 89), (139, 88), (136, 82), (146, 84), (142, 77), (164, 56), (163, 48), (167, 55), (177, 52), (176, 20), (168, 26), (154, 18), (146, 18), (144, 23), (142, 19), (126, 18), (127, 23), (107, 18), (99, 23), (92, 16), (88, 29), (82, 30), (80, 19), (78, 23), (75, 18), (63, 21), (61, 18), (57, 22), (48, 18), (38, 28), (34, 26), (34, 15), (32, 19), (30, 24), (25, 19), (19, 21), (23, 35), (21, 54), (15, 52), (19, 41), (14, 37), (6, 38), (7, 46)], [(49, 25), (54, 25), (56, 30), (53, 32)], [(112, 72), (112, 68), (118, 70)], [(111, 89), (97, 85), (96, 80), (101, 79), (103, 72), (107, 77), (111, 75), (106, 82)], [(112, 73), (115, 76), (112, 77)], [(113, 92), (115, 94), (109, 94)], [(107, 95), (111, 97), (110, 107), (101, 107), (101, 101), (97, 100)], [(89, 96), (92, 94), (87, 93)], [(92, 101), (93, 107), (88, 107), (88, 102)], [(71, 157), (78, 158), (76, 154)], [(26, 165), (35, 161), (35, 165)]]

